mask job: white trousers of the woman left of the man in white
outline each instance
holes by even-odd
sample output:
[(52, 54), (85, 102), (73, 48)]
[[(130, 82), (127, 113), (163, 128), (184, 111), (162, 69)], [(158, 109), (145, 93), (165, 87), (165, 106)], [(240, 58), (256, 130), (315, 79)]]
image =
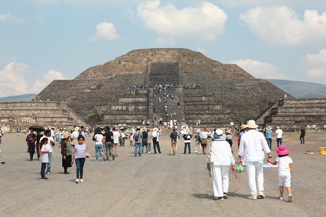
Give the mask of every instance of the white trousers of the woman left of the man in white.
[(229, 166), (211, 165), (214, 197), (223, 197), (229, 191)]

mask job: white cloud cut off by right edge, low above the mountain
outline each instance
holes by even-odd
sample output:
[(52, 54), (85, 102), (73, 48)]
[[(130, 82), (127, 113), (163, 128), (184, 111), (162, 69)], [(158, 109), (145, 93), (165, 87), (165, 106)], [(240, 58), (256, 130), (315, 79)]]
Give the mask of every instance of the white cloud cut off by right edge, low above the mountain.
[(318, 54), (307, 54), (302, 63), (309, 68), (306, 72), (309, 78), (326, 78), (326, 49)]

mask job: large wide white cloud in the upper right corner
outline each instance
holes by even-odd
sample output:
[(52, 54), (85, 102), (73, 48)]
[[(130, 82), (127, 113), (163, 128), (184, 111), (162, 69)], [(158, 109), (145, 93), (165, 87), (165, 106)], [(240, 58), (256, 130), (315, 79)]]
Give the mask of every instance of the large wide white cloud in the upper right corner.
[(249, 29), (263, 40), (285, 46), (325, 43), (326, 12), (305, 10), (300, 19), (291, 8), (256, 7), (240, 15)]

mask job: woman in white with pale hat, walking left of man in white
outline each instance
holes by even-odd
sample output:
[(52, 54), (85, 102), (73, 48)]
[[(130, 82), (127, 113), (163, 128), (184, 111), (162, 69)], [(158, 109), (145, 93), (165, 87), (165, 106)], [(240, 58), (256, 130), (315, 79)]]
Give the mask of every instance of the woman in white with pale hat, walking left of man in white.
[(235, 160), (222, 129), (216, 129), (212, 135), (207, 163), (211, 165), (214, 197), (221, 200), (228, 198), (229, 166), (231, 165), (231, 170), (234, 172)]

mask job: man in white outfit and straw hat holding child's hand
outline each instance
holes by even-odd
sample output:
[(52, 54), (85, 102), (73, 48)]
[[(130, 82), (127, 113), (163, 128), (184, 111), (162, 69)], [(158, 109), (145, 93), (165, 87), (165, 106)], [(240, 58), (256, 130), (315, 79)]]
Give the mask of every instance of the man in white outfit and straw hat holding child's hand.
[(256, 175), (258, 182), (258, 196), (260, 198), (265, 198), (263, 173), (263, 163), (265, 158), (264, 151), (268, 155), (268, 158), (271, 159), (270, 149), (264, 134), (255, 130), (258, 126), (254, 120), (249, 120), (246, 126), (248, 131), (241, 137), (238, 163), (242, 163), (241, 156), (245, 154), (251, 194), (248, 198), (257, 199)]

